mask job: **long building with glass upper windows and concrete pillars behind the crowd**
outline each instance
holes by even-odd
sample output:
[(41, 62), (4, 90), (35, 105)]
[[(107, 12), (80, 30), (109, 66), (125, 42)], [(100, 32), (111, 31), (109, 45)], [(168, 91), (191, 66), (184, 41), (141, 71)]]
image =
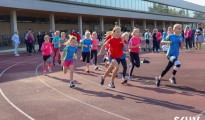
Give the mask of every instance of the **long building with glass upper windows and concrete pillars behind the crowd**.
[[(205, 22), (205, 7), (183, 0), (1, 0), (0, 35), (75, 29), (105, 32), (117, 22), (123, 29), (159, 30), (180, 23)], [(2, 29), (3, 28), (3, 29)]]

